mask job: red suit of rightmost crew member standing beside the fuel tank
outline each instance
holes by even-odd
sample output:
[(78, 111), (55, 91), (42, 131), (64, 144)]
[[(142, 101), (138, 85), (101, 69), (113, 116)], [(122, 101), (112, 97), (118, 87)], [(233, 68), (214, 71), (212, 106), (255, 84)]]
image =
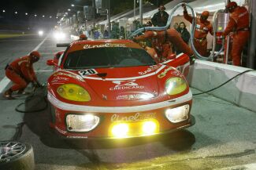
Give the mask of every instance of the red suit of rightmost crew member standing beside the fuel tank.
[(223, 35), (226, 36), (234, 31), (232, 44), (232, 60), (233, 65), (241, 65), (241, 53), (243, 46), (246, 45), (247, 39), (250, 36), (249, 32), (249, 13), (245, 7), (237, 6), (234, 12), (229, 17), (228, 26), (224, 30)]

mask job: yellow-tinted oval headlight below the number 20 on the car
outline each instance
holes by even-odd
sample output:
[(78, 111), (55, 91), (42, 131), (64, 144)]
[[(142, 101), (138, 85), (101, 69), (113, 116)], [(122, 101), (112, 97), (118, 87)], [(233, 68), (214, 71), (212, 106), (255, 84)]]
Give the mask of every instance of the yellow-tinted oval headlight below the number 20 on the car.
[(60, 85), (57, 89), (58, 94), (64, 99), (77, 102), (87, 102), (91, 100), (89, 93), (80, 85), (65, 84)]

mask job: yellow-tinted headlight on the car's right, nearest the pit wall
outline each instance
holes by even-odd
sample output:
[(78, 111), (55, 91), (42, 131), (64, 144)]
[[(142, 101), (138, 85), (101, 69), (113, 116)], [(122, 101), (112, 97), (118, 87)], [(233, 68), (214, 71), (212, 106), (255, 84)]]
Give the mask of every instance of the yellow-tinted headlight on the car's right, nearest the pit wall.
[(187, 89), (187, 82), (184, 78), (169, 78), (165, 82), (165, 91), (169, 95), (179, 94), (180, 92), (184, 92), (185, 89)]

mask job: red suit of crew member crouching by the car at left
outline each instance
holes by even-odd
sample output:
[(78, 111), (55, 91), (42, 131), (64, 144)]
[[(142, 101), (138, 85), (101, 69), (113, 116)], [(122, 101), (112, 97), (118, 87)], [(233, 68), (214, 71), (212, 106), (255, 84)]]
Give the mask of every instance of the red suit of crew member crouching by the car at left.
[(20, 57), (9, 63), (9, 66), (6, 67), (6, 77), (14, 83), (11, 87), (12, 91), (24, 89), (29, 82), (37, 81), (29, 56)]

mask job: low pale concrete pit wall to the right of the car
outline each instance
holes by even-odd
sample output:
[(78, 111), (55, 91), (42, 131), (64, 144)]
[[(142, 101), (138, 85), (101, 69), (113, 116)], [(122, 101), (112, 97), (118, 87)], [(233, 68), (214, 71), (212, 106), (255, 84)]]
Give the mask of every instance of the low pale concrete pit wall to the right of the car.
[[(188, 82), (192, 88), (205, 92), (247, 70), (250, 69), (196, 60), (188, 75)], [(256, 112), (256, 71), (242, 74), (209, 94)]]

